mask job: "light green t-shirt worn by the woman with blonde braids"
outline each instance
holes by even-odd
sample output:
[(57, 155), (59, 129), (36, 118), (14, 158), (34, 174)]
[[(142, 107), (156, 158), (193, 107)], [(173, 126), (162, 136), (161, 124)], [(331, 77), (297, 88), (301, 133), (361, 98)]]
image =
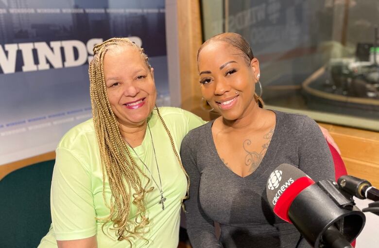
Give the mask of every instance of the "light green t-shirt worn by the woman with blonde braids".
[[(205, 122), (198, 116), (174, 107), (161, 107), (160, 113), (169, 128), (179, 154), (184, 136), (193, 128)], [(160, 204), (160, 193), (153, 180), (149, 186), (154, 187), (146, 195), (146, 215), (149, 217), (149, 231), (144, 237), (149, 240), (134, 239), (133, 248), (176, 248), (179, 238), (181, 199), (187, 192), (187, 179), (172, 150), (169, 137), (159, 120), (156, 110), (148, 119), (151, 128), (156, 159), (162, 181), (165, 209)], [(155, 164), (152, 140), (147, 130), (141, 145), (135, 147), (138, 156), (149, 167), (155, 181), (159, 185), (159, 177)], [(139, 161), (133, 150), (134, 157), (141, 170), (149, 177), (150, 173)], [(145, 185), (147, 179), (142, 180)], [(105, 197), (109, 205), (111, 191), (107, 177), (105, 178)], [(133, 197), (132, 197), (133, 199)], [(137, 207), (131, 203), (129, 218), (133, 220)], [(38, 248), (55, 248), (57, 240), (83, 239), (96, 235), (99, 248), (130, 247), (127, 241), (117, 241), (114, 230), (104, 227), (103, 222), (96, 219), (107, 217), (109, 208), (103, 200), (103, 172), (99, 146), (92, 119), (69, 130), (56, 149), (56, 161), (52, 177), (51, 189), (52, 226), (48, 234), (41, 240)]]

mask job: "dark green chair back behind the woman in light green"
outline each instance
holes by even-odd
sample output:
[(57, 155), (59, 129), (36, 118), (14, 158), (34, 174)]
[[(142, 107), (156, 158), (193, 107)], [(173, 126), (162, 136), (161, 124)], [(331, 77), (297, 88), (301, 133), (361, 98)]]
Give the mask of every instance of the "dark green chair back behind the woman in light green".
[(54, 163), (26, 166), (0, 180), (0, 248), (36, 248), (48, 232)]

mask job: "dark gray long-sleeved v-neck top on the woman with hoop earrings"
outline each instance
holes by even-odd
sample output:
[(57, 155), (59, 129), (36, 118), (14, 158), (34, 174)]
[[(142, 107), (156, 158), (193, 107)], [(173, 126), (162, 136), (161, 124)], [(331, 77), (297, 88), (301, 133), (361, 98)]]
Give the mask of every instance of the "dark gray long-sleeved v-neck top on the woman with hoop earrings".
[[(332, 157), (313, 120), (274, 112), (276, 126), (270, 145), (256, 171), (246, 177), (229, 170), (220, 159), (212, 136), (213, 121), (193, 129), (184, 138), (180, 154), (190, 179), (190, 198), (185, 206), (192, 247), (310, 247), (292, 224), (270, 209), (266, 183), (282, 163), (300, 168), (315, 181), (334, 180)], [(214, 222), (220, 223), (219, 240)]]

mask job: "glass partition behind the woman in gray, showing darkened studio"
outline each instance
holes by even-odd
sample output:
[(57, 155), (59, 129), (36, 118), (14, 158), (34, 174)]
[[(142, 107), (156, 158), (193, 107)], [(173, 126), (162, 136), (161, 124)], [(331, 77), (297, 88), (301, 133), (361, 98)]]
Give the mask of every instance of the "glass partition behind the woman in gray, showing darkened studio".
[(202, 0), (204, 39), (235, 32), (249, 41), (266, 106), (373, 130), (378, 16), (378, 0)]

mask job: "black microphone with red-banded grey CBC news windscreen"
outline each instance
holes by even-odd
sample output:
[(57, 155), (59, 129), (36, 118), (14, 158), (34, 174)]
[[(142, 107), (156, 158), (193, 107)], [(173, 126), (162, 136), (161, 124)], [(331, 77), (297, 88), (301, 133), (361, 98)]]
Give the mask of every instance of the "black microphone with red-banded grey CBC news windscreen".
[(312, 247), (351, 248), (365, 216), (351, 195), (330, 180), (315, 183), (297, 167), (279, 165), (267, 181), (267, 199), (274, 213), (293, 223)]

